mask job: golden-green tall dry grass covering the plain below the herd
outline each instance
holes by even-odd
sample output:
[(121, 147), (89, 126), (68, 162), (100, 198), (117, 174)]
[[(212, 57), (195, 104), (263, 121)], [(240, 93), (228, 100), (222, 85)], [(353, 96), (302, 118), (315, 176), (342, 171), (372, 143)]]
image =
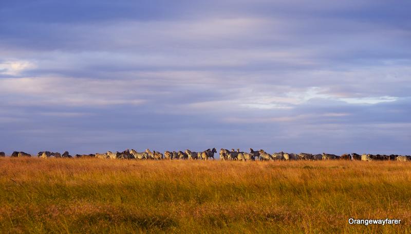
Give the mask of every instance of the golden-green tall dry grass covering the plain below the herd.
[[(406, 233), (411, 163), (0, 158), (1, 232)], [(348, 225), (397, 218), (401, 225)]]

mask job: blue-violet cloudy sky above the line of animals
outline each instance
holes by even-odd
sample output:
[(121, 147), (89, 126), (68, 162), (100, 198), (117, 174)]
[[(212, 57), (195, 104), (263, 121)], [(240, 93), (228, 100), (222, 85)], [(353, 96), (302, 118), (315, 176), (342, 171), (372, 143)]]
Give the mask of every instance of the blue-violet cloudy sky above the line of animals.
[(409, 9), (0, 1), (0, 151), (411, 154)]

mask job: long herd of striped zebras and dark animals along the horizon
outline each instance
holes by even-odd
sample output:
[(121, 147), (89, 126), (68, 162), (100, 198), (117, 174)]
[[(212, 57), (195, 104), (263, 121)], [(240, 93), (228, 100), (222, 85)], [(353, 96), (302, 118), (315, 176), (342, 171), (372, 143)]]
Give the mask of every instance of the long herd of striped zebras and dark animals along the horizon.
[[(191, 150), (183, 151), (165, 151), (164, 154), (158, 151), (151, 151), (150, 149), (146, 149), (144, 152), (137, 152), (133, 149), (125, 150), (123, 152), (116, 152), (113, 153), (111, 151), (107, 151), (106, 153), (96, 153), (96, 154), (76, 154), (74, 157), (96, 157), (96, 158), (107, 158), (107, 159), (153, 159), (153, 160), (161, 160), (161, 159), (202, 159), (208, 160), (213, 158), (214, 160), (214, 153), (217, 153), (215, 148), (207, 149), (202, 152), (194, 152)], [(381, 155), (381, 154), (343, 154), (341, 156), (335, 154), (309, 154), (309, 153), (273, 153), (269, 154), (264, 150), (254, 151), (250, 148), (250, 153), (241, 152), (239, 149), (234, 150), (231, 149), (221, 149), (220, 152), (220, 159), (221, 160), (238, 160), (238, 161), (254, 161), (254, 160), (261, 160), (261, 161), (268, 161), (268, 160), (329, 160), (329, 159), (341, 159), (341, 160), (362, 160), (362, 161), (372, 161), (372, 160), (397, 160), (397, 161), (411, 161), (411, 156), (409, 155)], [(5, 157), (6, 154), (4, 152), (0, 152), (0, 157)], [(31, 157), (30, 154), (25, 152), (17, 152), (14, 151), (11, 157)], [(67, 151), (63, 154), (58, 152), (49, 152), (49, 151), (42, 151), (37, 154), (38, 157), (41, 158), (48, 158), (54, 156), (56, 158), (72, 158)]]

